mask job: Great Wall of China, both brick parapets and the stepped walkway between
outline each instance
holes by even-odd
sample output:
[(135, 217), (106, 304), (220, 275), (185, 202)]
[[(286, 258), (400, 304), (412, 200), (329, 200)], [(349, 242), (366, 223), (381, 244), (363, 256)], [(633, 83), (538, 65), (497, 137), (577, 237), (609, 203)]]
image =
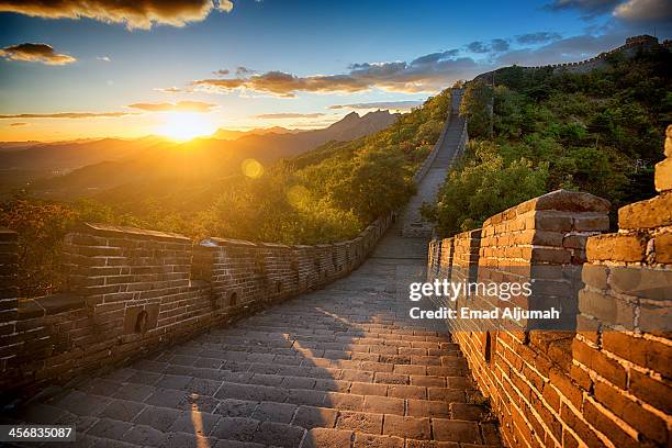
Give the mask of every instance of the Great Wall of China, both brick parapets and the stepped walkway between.
[[(421, 194), (456, 155), (444, 137)], [(618, 233), (608, 202), (556, 191), (429, 242), (427, 262), (417, 201), (318, 246), (88, 224), (66, 238), (68, 292), (25, 300), (2, 231), (0, 382), (43, 391), (7, 402), (3, 422), (76, 423), (80, 446), (670, 446), (672, 126), (664, 154), (659, 195), (620, 209)], [(539, 300), (570, 301), (580, 328), (418, 327), (407, 284), (425, 272), (523, 272)]]

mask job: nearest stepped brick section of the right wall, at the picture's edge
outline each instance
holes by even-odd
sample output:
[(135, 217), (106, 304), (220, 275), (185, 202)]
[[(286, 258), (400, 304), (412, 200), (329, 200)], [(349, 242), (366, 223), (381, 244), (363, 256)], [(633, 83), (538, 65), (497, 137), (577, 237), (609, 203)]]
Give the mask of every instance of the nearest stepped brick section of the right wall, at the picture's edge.
[(589, 239), (579, 298), (576, 408), (619, 447), (672, 443), (672, 126), (664, 154), (660, 194), (621, 208), (617, 233)]

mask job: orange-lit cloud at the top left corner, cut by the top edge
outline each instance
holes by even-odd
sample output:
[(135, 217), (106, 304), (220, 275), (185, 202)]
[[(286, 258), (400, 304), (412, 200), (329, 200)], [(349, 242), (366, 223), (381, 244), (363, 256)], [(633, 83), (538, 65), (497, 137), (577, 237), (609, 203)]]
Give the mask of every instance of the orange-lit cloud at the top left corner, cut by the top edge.
[(211, 11), (229, 12), (229, 0), (1, 0), (0, 12), (44, 19), (92, 19), (123, 23), (128, 30), (153, 24), (183, 26), (204, 20)]

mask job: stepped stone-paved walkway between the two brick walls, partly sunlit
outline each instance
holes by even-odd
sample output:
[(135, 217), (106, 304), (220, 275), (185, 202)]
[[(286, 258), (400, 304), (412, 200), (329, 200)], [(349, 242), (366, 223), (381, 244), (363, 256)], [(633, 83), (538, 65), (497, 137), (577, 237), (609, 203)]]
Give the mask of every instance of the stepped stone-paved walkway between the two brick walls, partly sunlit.
[(407, 316), (426, 244), (392, 228), (323, 290), (10, 417), (75, 424), (68, 447), (499, 446), (458, 346)]

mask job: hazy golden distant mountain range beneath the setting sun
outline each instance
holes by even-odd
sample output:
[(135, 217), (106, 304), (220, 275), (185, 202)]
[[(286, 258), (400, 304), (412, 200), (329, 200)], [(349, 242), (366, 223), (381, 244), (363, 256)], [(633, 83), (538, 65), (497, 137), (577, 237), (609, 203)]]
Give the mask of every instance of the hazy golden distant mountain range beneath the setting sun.
[[(388, 127), (396, 119), (397, 114), (388, 111), (363, 116), (352, 112), (323, 130), (278, 133), (278, 128), (271, 128), (261, 134), (244, 133), (235, 139), (206, 137), (177, 143), (145, 137), (41, 144), (0, 152), (0, 171), (13, 176), (30, 171), (30, 189), (38, 195), (97, 197), (123, 202), (128, 195), (152, 197), (149, 190), (157, 188), (170, 190), (215, 182), (237, 175), (240, 163), (247, 158), (268, 165), (329, 141), (359, 138)], [(26, 182), (25, 176), (18, 179)], [(1, 187), (8, 189), (5, 184)]]

